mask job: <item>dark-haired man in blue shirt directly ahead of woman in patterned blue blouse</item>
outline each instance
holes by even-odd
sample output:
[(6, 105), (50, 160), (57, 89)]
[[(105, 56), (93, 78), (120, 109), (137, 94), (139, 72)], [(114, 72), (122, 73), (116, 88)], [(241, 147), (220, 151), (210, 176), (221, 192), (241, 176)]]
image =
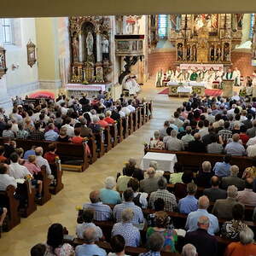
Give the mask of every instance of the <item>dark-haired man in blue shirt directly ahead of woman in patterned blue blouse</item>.
[(113, 217), (116, 219), (117, 222), (120, 222), (122, 220), (122, 212), (126, 208), (131, 208), (132, 211), (134, 212), (132, 223), (143, 224), (144, 223), (143, 211), (140, 207), (137, 207), (133, 202), (134, 192), (132, 191), (132, 189), (126, 189), (123, 195), (124, 195), (125, 201), (113, 207)]

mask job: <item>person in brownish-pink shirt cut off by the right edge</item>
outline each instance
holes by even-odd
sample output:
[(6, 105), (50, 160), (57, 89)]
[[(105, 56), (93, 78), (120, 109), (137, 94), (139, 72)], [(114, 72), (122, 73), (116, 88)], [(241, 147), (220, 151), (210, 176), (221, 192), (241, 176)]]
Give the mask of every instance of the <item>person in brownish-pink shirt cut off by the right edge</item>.
[(253, 192), (253, 178), (247, 177), (245, 189), (238, 191), (237, 201), (246, 206), (256, 207), (256, 193)]

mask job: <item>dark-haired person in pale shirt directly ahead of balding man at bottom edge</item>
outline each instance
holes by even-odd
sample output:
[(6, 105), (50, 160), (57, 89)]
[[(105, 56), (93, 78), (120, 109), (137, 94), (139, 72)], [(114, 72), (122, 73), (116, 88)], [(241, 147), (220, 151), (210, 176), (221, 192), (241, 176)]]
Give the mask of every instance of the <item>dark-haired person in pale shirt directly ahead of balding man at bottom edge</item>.
[(93, 216), (94, 216), (93, 209), (84, 210), (84, 212), (82, 214), (83, 223), (78, 224), (77, 228), (76, 228), (76, 234), (80, 239), (84, 239), (84, 231), (86, 229), (95, 228), (96, 234), (97, 234), (96, 241), (102, 240), (102, 238), (103, 238), (102, 229), (100, 227), (96, 226), (96, 224), (92, 223)]

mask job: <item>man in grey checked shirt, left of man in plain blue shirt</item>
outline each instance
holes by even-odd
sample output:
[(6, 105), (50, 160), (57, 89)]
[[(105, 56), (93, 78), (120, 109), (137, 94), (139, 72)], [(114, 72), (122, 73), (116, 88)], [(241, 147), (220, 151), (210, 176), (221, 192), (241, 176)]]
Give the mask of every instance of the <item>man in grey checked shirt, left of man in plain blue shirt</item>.
[(154, 201), (161, 198), (165, 201), (165, 211), (173, 212), (177, 208), (177, 201), (175, 195), (170, 193), (167, 189), (167, 181), (165, 177), (160, 177), (158, 181), (158, 190), (151, 193), (148, 201), (148, 207), (154, 207)]

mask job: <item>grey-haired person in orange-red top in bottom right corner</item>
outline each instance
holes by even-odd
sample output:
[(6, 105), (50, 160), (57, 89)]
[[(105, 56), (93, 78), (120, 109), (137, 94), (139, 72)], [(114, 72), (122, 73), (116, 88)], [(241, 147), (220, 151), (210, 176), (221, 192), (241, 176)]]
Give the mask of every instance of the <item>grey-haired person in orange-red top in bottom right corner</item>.
[(231, 242), (225, 251), (225, 256), (255, 255), (256, 244), (253, 243), (253, 230), (246, 227), (241, 230), (238, 242)]

